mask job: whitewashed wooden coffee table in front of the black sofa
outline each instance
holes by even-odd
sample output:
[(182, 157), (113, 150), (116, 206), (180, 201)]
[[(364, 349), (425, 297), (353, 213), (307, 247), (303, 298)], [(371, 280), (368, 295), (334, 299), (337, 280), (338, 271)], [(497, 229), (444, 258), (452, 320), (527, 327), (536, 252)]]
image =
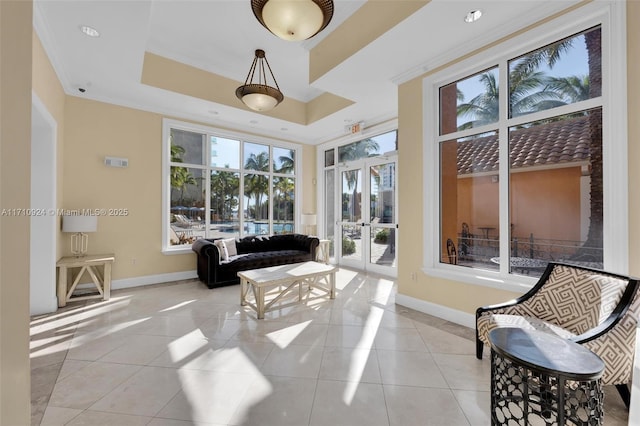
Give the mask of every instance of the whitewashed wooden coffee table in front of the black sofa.
[[(322, 296), (328, 294), (330, 299), (335, 299), (337, 270), (333, 265), (304, 262), (238, 272), (240, 305), (249, 306), (257, 312), (258, 319), (264, 319), (265, 312), (302, 302), (303, 294), (311, 289), (318, 289), (323, 293)], [(275, 303), (296, 290), (296, 287), (298, 300), (274, 307)], [(267, 289), (272, 289), (268, 294), (275, 296), (268, 303), (265, 302)], [(253, 294), (253, 301), (247, 298), (249, 291)]]

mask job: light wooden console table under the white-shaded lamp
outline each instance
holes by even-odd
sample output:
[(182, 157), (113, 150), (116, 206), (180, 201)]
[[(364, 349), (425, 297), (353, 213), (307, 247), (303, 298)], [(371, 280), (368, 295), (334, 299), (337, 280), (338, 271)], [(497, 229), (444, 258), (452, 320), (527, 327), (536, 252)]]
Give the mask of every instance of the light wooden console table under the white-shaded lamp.
[[(63, 307), (67, 302), (74, 300), (102, 298), (109, 300), (111, 297), (111, 264), (115, 260), (113, 254), (97, 254), (89, 256), (66, 256), (58, 260), (56, 266), (58, 275), (58, 307)], [(102, 267), (102, 273), (100, 272)], [(80, 268), (74, 276), (73, 269)], [(98, 294), (73, 296), (73, 292), (80, 283), (85, 272), (91, 277)], [(71, 282), (71, 286), (69, 286)]]

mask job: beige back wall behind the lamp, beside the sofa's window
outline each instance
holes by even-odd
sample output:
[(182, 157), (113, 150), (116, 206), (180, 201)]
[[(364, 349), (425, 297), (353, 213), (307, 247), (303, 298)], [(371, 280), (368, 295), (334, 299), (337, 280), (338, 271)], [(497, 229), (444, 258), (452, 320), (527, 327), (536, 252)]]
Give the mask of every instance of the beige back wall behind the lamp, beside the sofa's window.
[[(195, 270), (195, 254), (162, 254), (162, 118), (140, 110), (68, 96), (64, 134), (64, 209), (128, 209), (101, 216), (89, 251), (115, 253), (113, 279)], [(129, 167), (106, 167), (105, 156)], [(305, 147), (303, 211), (315, 211), (315, 151)], [(69, 236), (62, 234), (64, 253)]]

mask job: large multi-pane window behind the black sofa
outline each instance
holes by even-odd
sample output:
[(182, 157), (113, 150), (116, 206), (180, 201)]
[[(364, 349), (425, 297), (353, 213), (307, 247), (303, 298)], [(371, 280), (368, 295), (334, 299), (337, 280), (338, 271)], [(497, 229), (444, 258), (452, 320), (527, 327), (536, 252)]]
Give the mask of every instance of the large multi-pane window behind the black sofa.
[(295, 231), (298, 146), (255, 139), (164, 121), (166, 251), (198, 238)]

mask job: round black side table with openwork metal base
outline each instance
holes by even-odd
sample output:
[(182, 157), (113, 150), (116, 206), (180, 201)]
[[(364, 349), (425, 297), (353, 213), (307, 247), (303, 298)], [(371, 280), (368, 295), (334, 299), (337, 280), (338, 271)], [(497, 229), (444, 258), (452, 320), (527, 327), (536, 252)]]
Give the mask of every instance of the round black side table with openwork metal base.
[(497, 328), (491, 342), (492, 425), (602, 425), (604, 362), (537, 330)]

